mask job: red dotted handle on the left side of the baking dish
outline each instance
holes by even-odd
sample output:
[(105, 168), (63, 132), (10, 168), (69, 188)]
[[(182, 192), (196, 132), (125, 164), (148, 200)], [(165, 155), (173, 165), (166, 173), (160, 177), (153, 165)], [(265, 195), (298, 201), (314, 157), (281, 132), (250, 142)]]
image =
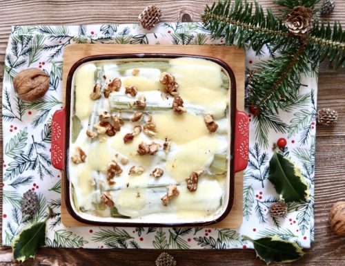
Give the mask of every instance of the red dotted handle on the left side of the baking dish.
[(66, 108), (52, 115), (52, 166), (59, 170), (65, 168)]

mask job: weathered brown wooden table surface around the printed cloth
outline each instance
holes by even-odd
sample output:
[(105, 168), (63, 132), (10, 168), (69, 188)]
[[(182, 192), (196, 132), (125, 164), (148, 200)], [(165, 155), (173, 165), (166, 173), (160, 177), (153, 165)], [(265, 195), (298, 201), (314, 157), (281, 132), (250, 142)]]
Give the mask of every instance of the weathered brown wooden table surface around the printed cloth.
[[(213, 1), (0, 1), (0, 88), (5, 50), (12, 25), (130, 23), (148, 4), (164, 12), (165, 21), (197, 21), (206, 3)], [(259, 0), (277, 10), (273, 0)], [(337, 0), (331, 19), (345, 26), (345, 1)], [(331, 107), (339, 113), (332, 128), (317, 127), (315, 169), (315, 243), (294, 265), (345, 265), (345, 238), (335, 236), (328, 226), (328, 211), (337, 200), (345, 200), (345, 70), (319, 71), (318, 108)], [(0, 149), (2, 150), (0, 124)], [(2, 161), (2, 152), (0, 154)], [(2, 169), (1, 177), (2, 177)], [(2, 199), (2, 191), (0, 192)], [(2, 210), (1, 204), (0, 209)], [(1, 226), (1, 222), (0, 222)], [(1, 236), (0, 236), (1, 238)], [(24, 265), (155, 265), (159, 250), (152, 249), (50, 249), (41, 248), (34, 260)], [(177, 265), (264, 265), (253, 250), (170, 250)], [(11, 249), (0, 247), (0, 265), (16, 265)]]

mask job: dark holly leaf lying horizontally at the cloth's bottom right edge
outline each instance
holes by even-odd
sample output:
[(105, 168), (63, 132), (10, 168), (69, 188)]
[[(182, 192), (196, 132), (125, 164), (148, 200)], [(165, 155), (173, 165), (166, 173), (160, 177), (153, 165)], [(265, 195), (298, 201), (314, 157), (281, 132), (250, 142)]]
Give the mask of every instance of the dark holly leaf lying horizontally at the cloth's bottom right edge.
[(253, 242), (257, 256), (266, 264), (290, 263), (304, 255), (304, 251), (296, 243), (282, 240), (277, 236), (248, 240)]

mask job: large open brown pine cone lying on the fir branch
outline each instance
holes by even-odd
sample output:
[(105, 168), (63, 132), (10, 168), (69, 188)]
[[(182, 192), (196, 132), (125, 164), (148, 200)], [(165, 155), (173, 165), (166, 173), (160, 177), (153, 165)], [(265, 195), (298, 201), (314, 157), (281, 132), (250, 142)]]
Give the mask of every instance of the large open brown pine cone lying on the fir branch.
[(285, 20), (285, 26), (290, 33), (294, 35), (304, 35), (313, 29), (314, 13), (311, 8), (296, 6), (288, 13)]

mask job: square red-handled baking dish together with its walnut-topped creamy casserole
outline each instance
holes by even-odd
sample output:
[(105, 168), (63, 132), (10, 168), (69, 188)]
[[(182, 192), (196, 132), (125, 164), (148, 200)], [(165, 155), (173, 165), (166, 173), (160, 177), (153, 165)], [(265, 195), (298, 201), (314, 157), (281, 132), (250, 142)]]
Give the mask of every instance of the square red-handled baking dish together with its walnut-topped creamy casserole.
[(79, 222), (212, 225), (230, 212), (235, 172), (246, 168), (248, 116), (237, 111), (235, 75), (220, 59), (96, 55), (68, 73), (51, 151)]

